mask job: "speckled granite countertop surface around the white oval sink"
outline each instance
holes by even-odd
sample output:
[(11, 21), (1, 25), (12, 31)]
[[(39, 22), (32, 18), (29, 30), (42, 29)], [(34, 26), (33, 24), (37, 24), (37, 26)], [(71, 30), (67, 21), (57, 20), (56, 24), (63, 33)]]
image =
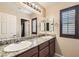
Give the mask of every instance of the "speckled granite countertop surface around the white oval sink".
[(23, 49), (23, 50), (20, 50), (20, 51), (16, 51), (16, 52), (4, 52), (3, 49), (8, 46), (8, 45), (2, 45), (0, 46), (0, 57), (13, 57), (17, 54), (20, 54), (24, 51), (27, 51), (35, 46), (38, 46), (40, 45), (41, 43), (44, 43), (45, 41), (48, 41), (52, 38), (55, 38), (55, 35), (49, 35), (49, 36), (46, 36), (46, 38), (44, 38), (44, 36), (42, 37), (35, 37), (33, 39), (26, 39), (27, 41), (30, 41), (32, 42), (32, 45), (27, 47), (26, 49)]

